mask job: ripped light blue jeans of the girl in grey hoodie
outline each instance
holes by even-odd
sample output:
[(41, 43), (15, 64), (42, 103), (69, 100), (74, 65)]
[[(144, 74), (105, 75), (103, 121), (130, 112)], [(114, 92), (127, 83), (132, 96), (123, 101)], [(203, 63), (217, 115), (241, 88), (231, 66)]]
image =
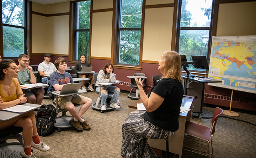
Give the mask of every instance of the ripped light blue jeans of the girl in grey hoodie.
[(101, 91), (101, 105), (104, 105), (106, 104), (106, 100), (107, 100), (107, 96), (108, 96), (108, 92), (113, 92), (114, 93), (114, 96), (112, 97), (111, 99), (111, 102), (112, 103), (116, 103), (117, 102), (117, 99), (119, 97), (119, 94), (120, 94), (120, 90), (116, 90), (117, 86), (108, 86), (108, 88), (101, 88), (101, 89), (105, 89), (107, 92), (102, 92)]

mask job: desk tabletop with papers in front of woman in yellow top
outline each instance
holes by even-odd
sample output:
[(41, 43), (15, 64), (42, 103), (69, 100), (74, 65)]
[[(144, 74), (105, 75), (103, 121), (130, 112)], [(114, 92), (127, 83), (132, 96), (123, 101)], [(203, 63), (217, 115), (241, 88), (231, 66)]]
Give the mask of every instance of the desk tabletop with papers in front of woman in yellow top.
[[(21, 104), (21, 105), (34, 107), (32, 110), (41, 107), (41, 105), (38, 105), (38, 104), (30, 104), (30, 103), (24, 103), (24, 104)], [(28, 112), (29, 112), (29, 111), (28, 111)], [(7, 120), (10, 120), (10, 119), (12, 119), (12, 118), (15, 118), (15, 117), (17, 117), (17, 116), (19, 116), (19, 115), (25, 114), (25, 113), (27, 113), (27, 112), (16, 113), (16, 112), (10, 112), (10, 111), (1, 110), (1, 111), (0, 111), (0, 121), (7, 121)]]

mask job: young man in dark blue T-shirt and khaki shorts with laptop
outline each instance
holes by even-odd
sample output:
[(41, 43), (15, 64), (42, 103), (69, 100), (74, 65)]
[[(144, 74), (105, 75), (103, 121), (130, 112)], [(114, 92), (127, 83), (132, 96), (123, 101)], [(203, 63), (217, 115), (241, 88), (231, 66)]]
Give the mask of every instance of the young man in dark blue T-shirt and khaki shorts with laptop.
[[(65, 58), (58, 58), (54, 62), (57, 71), (50, 75), (50, 82), (52, 90), (60, 91), (64, 84), (74, 83), (70, 73), (66, 72), (67, 64)], [(53, 102), (56, 103), (56, 96), (53, 95)], [(79, 111), (76, 110), (73, 103), (83, 104)], [(69, 121), (69, 124), (74, 126), (78, 131), (90, 130), (91, 127), (87, 124), (86, 120), (81, 118), (87, 109), (91, 106), (92, 100), (82, 95), (72, 95), (66, 97), (58, 97), (58, 105), (62, 109), (66, 109), (74, 117)]]

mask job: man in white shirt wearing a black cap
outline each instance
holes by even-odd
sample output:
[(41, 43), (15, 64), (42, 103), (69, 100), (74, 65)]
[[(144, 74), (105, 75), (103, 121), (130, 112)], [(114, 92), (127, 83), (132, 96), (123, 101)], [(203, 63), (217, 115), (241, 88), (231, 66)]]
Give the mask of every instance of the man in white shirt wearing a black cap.
[[(44, 55), (44, 61), (38, 65), (37, 70), (38, 70), (39, 74), (43, 77), (42, 83), (47, 83), (47, 77), (44, 77), (44, 75), (50, 75), (54, 71), (57, 70), (56, 67), (54, 66), (54, 64), (52, 62), (50, 62), (51, 58), (52, 58), (52, 56), (49, 53), (46, 53)], [(50, 84), (49, 77), (48, 77), (48, 84), (49, 84), (49, 88), (47, 90), (47, 95), (50, 98), (52, 98), (52, 85)]]

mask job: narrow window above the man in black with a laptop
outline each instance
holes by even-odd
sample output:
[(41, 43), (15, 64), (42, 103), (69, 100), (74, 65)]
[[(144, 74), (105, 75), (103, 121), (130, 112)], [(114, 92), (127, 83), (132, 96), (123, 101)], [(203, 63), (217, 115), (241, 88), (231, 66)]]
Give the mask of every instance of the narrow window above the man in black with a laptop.
[(90, 35), (90, 12), (91, 1), (76, 2), (75, 16), (75, 41), (74, 41), (74, 60), (79, 60), (80, 55), (89, 58), (89, 35)]

